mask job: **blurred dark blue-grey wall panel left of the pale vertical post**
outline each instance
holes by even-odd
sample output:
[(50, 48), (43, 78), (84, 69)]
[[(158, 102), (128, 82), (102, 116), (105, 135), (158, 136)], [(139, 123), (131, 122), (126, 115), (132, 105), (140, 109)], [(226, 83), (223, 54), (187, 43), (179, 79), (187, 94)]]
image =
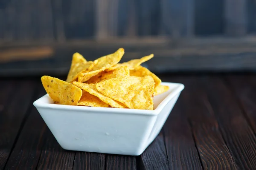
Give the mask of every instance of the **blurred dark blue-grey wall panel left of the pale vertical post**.
[[(62, 23), (64, 24), (65, 37), (67, 39), (84, 39), (94, 36), (94, 30), (96, 29), (94, 27), (95, 3), (94, 0), (56, 1), (55, 7), (61, 8), (62, 11), (62, 13), (56, 13), (56, 19), (60, 24), (59, 28), (57, 28), (62, 29)], [(102, 3), (104, 4), (103, 1)], [(105, 15), (107, 14), (108, 11), (106, 11)], [(104, 22), (108, 22), (108, 20)]]

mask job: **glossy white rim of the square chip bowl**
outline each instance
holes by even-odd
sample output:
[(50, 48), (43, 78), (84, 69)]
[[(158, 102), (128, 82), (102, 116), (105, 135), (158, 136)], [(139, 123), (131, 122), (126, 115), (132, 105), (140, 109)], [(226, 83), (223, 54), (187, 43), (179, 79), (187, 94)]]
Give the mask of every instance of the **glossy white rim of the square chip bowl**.
[(143, 115), (158, 115), (160, 111), (167, 105), (167, 103), (175, 97), (178, 93), (183, 91), (184, 85), (181, 83), (174, 83), (174, 82), (162, 82), (161, 85), (176, 85), (172, 91), (160, 102), (160, 104), (154, 110), (144, 110), (144, 109), (129, 109), (129, 108), (100, 108), (100, 107), (87, 107), (87, 106), (73, 106), (73, 105), (56, 105), (52, 103), (43, 103), (39, 102), (42, 98), (49, 97), (48, 94), (40, 97), (39, 99), (33, 102), (33, 105), (36, 108), (51, 108), (51, 109), (58, 109), (58, 110), (70, 110), (70, 111), (90, 111), (90, 112), (102, 112), (102, 113), (128, 113), (128, 114), (143, 114)]

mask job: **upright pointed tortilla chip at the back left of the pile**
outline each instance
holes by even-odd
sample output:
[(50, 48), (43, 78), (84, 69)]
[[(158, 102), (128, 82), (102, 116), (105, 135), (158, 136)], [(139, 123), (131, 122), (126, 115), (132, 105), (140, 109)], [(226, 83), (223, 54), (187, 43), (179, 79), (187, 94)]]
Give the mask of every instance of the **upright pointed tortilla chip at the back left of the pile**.
[(68, 75), (67, 75), (66, 82), (75, 81), (81, 72), (90, 71), (93, 68), (93, 66), (96, 65), (97, 63), (98, 63), (98, 60), (87, 62), (86, 59), (84, 59), (84, 57), (81, 54), (79, 53), (73, 54), (73, 59), (71, 62), (70, 71), (68, 72)]

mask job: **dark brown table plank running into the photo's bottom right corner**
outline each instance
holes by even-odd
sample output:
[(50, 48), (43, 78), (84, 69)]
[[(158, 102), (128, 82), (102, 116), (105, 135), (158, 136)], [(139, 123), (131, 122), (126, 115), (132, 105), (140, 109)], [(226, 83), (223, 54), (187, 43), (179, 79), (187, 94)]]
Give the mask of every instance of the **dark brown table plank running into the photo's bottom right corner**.
[(254, 169), (256, 137), (239, 107), (236, 95), (219, 77), (205, 77), (202, 82), (233, 160), (239, 169)]

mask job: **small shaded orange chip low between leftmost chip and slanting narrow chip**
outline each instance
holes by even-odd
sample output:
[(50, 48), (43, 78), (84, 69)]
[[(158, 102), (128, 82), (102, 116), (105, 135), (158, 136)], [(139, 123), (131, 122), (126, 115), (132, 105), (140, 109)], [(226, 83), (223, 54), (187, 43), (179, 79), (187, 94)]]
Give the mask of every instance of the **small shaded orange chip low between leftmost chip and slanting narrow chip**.
[(91, 95), (87, 91), (83, 91), (81, 99), (77, 105), (91, 106), (91, 107), (105, 107), (105, 108), (109, 107), (107, 103), (102, 102), (101, 99)]

